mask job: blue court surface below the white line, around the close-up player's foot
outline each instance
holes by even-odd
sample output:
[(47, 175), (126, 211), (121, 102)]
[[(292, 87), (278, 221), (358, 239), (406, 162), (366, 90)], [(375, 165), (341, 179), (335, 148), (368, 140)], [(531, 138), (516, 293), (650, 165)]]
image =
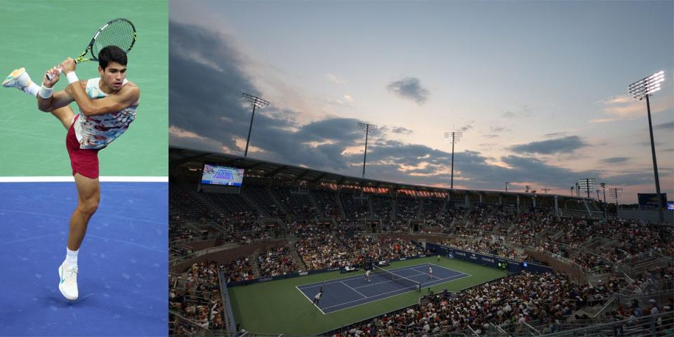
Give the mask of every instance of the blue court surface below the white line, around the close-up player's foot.
[(166, 336), (169, 183), (101, 183), (79, 249), (79, 298), (58, 291), (74, 183), (0, 183), (0, 336)]

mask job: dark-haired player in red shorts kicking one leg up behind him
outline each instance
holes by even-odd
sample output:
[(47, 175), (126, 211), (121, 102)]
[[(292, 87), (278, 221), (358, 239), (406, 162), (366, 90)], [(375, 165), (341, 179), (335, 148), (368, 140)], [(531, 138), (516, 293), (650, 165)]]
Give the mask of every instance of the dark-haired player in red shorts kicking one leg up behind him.
[[(66, 257), (58, 267), (58, 289), (68, 300), (77, 300), (77, 254), (86, 234), (86, 226), (98, 209), (98, 151), (121, 136), (136, 119), (140, 89), (126, 80), (126, 53), (107, 46), (98, 53), (100, 78), (79, 80), (75, 62), (67, 58), (60, 64), (68, 79), (63, 91), (53, 91), (59, 80), (57, 67), (47, 70), (42, 86), (34, 84), (24, 68), (14, 70), (3, 86), (18, 88), (37, 97), (39, 110), (51, 112), (67, 128), (65, 144), (70, 155), (72, 175), (77, 186), (78, 203), (70, 218)], [(46, 75), (45, 74), (45, 75)], [(79, 113), (68, 106), (76, 102)]]

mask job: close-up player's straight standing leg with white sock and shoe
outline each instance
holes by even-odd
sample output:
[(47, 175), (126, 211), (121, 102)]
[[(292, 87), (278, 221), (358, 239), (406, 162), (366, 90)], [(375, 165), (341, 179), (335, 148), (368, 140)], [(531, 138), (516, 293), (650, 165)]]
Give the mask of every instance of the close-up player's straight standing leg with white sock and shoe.
[(58, 276), (60, 277), (58, 290), (69, 300), (77, 300), (79, 296), (77, 289), (77, 253), (82, 240), (84, 240), (89, 219), (98, 209), (98, 201), (100, 201), (98, 178), (86, 178), (79, 173), (75, 173), (74, 178), (77, 186), (77, 207), (70, 218), (67, 255), (65, 261), (58, 267)]

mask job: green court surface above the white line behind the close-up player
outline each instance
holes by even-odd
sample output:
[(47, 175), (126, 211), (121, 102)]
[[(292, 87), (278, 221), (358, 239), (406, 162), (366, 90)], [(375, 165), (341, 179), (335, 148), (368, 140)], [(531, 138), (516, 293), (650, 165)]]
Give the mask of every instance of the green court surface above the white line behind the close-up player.
[[(0, 75), (25, 67), (41, 84), (44, 72), (84, 51), (105, 22), (127, 18), (138, 40), (127, 79), (140, 88), (138, 115), (101, 151), (101, 176), (168, 176), (168, 1), (1, 1)], [(99, 77), (97, 62), (77, 65), (79, 79)], [(62, 76), (55, 89), (65, 88)], [(35, 98), (0, 86), (0, 176), (70, 176), (66, 130)], [(77, 105), (71, 107), (77, 112)]]

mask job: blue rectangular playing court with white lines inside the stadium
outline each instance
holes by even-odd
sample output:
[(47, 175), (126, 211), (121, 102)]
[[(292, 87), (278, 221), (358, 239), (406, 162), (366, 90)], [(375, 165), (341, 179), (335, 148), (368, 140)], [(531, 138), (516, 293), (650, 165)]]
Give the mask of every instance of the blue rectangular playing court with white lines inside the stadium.
[[(432, 267), (433, 270), (431, 279), (428, 278), (429, 266)], [(470, 276), (463, 272), (457, 272), (456, 270), (429, 263), (390, 269), (388, 271), (402, 277), (407, 277), (407, 279), (420, 282), (423, 288)], [(370, 282), (366, 281), (364, 275), (357, 275), (343, 279), (333, 279), (325, 283), (318, 282), (315, 284), (304, 284), (302, 286), (297, 286), (296, 288), (301, 291), (308, 300), (313, 301), (314, 296), (320, 291), (321, 286), (323, 286), (323, 296), (319, 300), (317, 308), (324, 314), (418, 290), (411, 289), (409, 286), (404, 286), (403, 284), (392, 281), (391, 279), (376, 273), (370, 275)]]

